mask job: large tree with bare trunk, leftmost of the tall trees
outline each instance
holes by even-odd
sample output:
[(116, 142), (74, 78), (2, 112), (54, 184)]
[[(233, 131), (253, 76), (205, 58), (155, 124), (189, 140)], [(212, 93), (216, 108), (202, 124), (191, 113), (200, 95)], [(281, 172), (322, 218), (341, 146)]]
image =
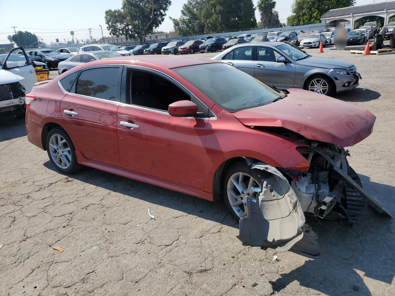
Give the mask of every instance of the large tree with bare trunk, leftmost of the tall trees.
[(121, 9), (105, 11), (107, 30), (145, 44), (145, 36), (162, 24), (170, 4), (171, 0), (123, 0)]

